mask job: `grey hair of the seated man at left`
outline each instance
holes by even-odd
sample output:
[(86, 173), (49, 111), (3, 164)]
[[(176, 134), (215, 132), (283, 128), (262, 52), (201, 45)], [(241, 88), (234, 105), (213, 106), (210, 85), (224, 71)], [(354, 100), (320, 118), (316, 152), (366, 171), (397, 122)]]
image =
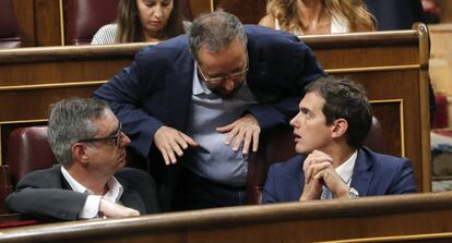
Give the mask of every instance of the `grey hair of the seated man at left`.
[(72, 145), (96, 135), (97, 127), (92, 121), (104, 116), (107, 109), (106, 102), (93, 98), (73, 97), (51, 105), (47, 135), (59, 163), (72, 162)]

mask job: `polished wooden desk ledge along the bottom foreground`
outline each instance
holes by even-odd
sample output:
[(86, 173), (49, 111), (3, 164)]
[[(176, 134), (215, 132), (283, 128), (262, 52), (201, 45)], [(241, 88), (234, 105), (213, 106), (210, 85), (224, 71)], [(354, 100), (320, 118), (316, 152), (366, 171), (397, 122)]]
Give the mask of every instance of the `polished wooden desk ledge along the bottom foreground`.
[(254, 205), (2, 230), (0, 242), (313, 242), (440, 236), (452, 193)]

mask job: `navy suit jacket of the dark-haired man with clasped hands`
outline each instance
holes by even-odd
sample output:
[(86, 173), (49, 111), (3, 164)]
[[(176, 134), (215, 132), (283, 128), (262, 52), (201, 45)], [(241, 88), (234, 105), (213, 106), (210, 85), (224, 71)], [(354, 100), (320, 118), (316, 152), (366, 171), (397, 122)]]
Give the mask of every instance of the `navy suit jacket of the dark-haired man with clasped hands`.
[[(305, 184), (305, 158), (296, 156), (270, 167), (262, 192), (263, 204), (300, 198)], [(373, 153), (366, 147), (358, 149), (350, 186), (361, 197), (416, 192), (412, 165), (406, 158)]]

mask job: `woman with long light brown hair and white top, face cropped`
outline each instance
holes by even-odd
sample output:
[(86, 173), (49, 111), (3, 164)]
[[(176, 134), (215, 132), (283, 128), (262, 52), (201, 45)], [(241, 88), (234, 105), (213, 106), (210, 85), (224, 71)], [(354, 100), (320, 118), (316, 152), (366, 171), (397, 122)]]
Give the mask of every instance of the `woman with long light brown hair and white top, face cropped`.
[(259, 24), (295, 35), (374, 31), (362, 0), (267, 0)]

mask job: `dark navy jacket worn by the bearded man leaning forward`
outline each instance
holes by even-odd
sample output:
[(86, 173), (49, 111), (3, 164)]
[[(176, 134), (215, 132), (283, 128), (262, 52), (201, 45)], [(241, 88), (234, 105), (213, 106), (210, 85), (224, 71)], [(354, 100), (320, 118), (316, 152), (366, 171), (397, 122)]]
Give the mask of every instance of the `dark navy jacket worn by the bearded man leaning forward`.
[[(262, 129), (287, 124), (298, 111), (304, 87), (324, 75), (313, 52), (296, 36), (262, 26), (246, 26), (249, 72), (247, 84), (260, 101), (251, 112)], [(192, 95), (194, 61), (187, 36), (151, 46), (94, 96), (107, 100), (123, 123), (131, 147), (148, 158), (159, 184), (160, 206), (168, 209), (177, 183), (176, 166), (165, 167), (152, 146), (163, 125), (185, 132)], [(157, 168), (154, 168), (157, 167)]]

